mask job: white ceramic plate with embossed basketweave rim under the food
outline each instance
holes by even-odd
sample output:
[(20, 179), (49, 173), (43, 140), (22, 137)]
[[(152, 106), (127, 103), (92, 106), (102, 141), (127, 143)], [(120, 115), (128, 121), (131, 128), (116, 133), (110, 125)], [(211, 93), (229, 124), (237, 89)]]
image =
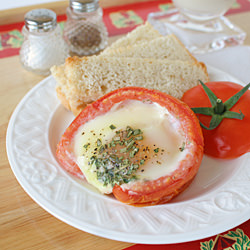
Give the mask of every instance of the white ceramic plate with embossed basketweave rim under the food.
[[(240, 82), (208, 67), (211, 80)], [(250, 154), (231, 160), (204, 157), (191, 186), (171, 203), (136, 208), (97, 193), (67, 174), (56, 144), (73, 120), (48, 77), (19, 103), (9, 122), (7, 153), (24, 190), (45, 210), (80, 230), (119, 241), (165, 244), (229, 230), (250, 218)]]

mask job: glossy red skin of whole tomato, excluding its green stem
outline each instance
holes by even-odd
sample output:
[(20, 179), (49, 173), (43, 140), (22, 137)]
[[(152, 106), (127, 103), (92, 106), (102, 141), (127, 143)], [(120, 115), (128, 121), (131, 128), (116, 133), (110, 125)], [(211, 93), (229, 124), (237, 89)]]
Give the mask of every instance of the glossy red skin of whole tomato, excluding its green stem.
[[(242, 89), (242, 86), (232, 82), (208, 82), (206, 85), (223, 102)], [(196, 86), (182, 97), (182, 101), (189, 107), (211, 107), (202, 86)], [(202, 128), (204, 136), (204, 153), (208, 156), (220, 159), (237, 158), (250, 151), (250, 91), (240, 98), (240, 100), (230, 109), (234, 112), (242, 112), (243, 120), (225, 118), (221, 124), (213, 129)], [(209, 126), (211, 116), (197, 114), (198, 119)]]

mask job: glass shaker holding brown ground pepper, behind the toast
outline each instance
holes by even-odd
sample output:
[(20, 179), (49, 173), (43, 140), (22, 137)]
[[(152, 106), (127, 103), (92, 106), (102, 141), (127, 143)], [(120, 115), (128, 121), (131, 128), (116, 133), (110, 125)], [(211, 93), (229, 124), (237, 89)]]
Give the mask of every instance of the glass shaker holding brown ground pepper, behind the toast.
[(64, 39), (71, 56), (97, 54), (107, 46), (108, 32), (102, 16), (98, 0), (70, 0)]

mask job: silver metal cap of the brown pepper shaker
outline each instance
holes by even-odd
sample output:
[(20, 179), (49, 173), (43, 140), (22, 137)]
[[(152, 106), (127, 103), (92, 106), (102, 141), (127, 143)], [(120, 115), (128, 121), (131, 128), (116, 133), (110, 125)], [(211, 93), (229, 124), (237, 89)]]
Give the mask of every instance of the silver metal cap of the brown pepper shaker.
[(70, 8), (77, 12), (93, 12), (99, 8), (99, 1), (70, 0)]

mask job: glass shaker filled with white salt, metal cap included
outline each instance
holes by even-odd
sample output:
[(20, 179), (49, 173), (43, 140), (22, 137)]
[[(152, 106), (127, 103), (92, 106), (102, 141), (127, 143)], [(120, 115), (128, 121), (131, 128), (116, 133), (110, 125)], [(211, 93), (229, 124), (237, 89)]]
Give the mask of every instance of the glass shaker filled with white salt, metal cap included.
[(31, 10), (25, 15), (24, 23), (21, 63), (29, 71), (48, 75), (51, 66), (64, 63), (69, 55), (56, 13), (48, 9)]

